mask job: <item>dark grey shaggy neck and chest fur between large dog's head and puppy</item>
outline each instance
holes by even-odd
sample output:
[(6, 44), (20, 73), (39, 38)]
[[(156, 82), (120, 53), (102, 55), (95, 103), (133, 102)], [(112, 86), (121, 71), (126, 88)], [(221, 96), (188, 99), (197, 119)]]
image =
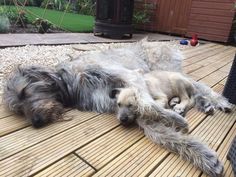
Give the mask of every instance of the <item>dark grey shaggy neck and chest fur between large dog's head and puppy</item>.
[(70, 106), (83, 111), (114, 112), (116, 103), (110, 99), (109, 93), (126, 84), (116, 75), (96, 67), (78, 73), (62, 68), (58, 73), (68, 90)]

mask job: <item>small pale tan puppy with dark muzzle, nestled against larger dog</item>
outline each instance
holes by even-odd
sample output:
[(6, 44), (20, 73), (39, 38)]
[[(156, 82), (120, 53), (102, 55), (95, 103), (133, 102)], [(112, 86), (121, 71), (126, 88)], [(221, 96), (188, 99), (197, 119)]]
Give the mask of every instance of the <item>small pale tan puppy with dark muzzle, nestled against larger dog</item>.
[[(135, 72), (135, 71), (134, 71)], [(142, 73), (141, 70), (137, 72)], [(192, 80), (179, 72), (151, 71), (143, 75), (148, 91), (157, 104), (165, 109), (172, 109), (181, 116), (195, 106), (196, 95)], [(144, 107), (140, 100), (140, 93), (135, 87), (117, 88), (111, 93), (111, 98), (117, 99), (118, 119), (123, 124), (130, 124), (135, 120), (136, 112), (142, 112)], [(214, 108), (205, 108), (206, 114), (213, 114)]]

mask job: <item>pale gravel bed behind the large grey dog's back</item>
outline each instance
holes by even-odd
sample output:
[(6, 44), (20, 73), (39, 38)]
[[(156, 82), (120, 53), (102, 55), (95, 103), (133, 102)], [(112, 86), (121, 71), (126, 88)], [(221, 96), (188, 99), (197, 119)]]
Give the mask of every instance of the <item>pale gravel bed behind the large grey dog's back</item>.
[[(178, 41), (150, 42), (152, 45), (168, 45), (180, 50), (189, 46), (179, 45)], [(121, 47), (129, 43), (112, 44), (77, 44), (60, 46), (35, 46), (9, 47), (0, 49), (0, 95), (3, 93), (4, 78), (6, 78), (18, 65), (55, 66), (58, 63), (70, 60), (84, 52), (91, 50), (105, 50), (110, 47)]]

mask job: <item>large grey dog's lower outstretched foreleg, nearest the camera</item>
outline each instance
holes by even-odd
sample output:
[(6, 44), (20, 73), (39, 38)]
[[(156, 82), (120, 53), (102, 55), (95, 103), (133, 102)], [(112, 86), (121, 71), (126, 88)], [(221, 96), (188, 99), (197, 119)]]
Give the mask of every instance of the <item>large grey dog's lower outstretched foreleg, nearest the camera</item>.
[(161, 123), (144, 119), (137, 119), (137, 123), (154, 143), (179, 154), (212, 177), (222, 174), (222, 163), (218, 160), (216, 153), (206, 145), (187, 135), (175, 132)]

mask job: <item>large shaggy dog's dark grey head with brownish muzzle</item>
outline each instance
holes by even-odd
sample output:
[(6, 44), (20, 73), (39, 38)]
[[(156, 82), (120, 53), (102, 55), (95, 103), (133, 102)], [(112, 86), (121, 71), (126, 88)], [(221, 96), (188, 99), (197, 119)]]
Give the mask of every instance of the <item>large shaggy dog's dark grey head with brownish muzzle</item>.
[(66, 93), (54, 70), (19, 67), (7, 81), (3, 101), (10, 110), (24, 114), (35, 127), (40, 127), (61, 118), (61, 101), (67, 99)]

